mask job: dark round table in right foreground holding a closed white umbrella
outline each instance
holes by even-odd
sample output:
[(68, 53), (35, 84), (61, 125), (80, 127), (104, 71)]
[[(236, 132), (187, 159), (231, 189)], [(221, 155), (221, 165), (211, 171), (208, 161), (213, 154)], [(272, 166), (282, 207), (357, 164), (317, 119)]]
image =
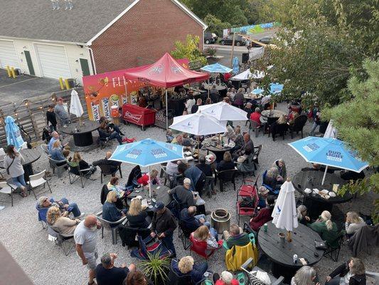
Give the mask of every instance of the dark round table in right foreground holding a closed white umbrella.
[[(272, 274), (276, 278), (284, 276), (284, 283), (289, 284), (297, 269), (303, 266), (300, 258), (306, 259), (307, 265), (312, 266), (320, 261), (324, 250), (314, 247), (314, 241), (321, 242), (321, 237), (304, 224), (299, 224), (291, 233), (292, 242), (287, 242), (287, 239), (282, 242), (279, 239), (280, 232), (287, 234), (284, 229), (277, 229), (271, 221), (267, 222), (267, 232), (263, 227), (258, 232), (258, 243), (262, 252), (272, 261)], [(294, 263), (294, 254), (297, 254), (297, 263)]]

